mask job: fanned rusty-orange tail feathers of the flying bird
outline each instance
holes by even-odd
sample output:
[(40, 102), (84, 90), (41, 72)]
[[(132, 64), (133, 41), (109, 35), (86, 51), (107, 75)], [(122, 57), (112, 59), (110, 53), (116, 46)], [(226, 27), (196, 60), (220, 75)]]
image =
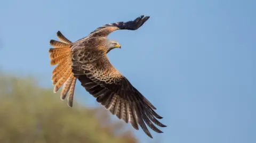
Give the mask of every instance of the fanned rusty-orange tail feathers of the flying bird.
[(50, 45), (53, 48), (49, 49), (51, 65), (57, 65), (52, 71), (52, 84), (54, 85), (53, 92), (57, 92), (63, 85), (60, 98), (64, 100), (68, 95), (68, 106), (73, 106), (73, 95), (76, 85), (76, 78), (71, 70), (71, 41), (57, 32), (57, 37), (60, 41), (50, 40)]

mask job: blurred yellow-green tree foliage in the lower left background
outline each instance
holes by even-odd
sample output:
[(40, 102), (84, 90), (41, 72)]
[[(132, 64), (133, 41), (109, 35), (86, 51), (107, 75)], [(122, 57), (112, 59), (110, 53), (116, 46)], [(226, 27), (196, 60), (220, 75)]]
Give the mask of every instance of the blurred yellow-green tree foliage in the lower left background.
[(70, 108), (59, 94), (36, 86), (33, 78), (1, 74), (0, 79), (0, 142), (138, 142), (102, 108)]

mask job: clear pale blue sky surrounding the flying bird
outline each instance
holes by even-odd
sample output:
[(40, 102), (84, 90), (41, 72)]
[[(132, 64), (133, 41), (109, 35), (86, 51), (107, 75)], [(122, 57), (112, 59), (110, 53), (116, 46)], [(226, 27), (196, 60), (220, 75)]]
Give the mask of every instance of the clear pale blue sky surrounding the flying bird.
[[(75, 41), (118, 21), (151, 18), (110, 34), (110, 62), (168, 125), (155, 141), (256, 142), (256, 1), (1, 1), (0, 67), (51, 87), (49, 40)], [(77, 84), (75, 99), (98, 105)], [(150, 139), (134, 131), (141, 142)]]

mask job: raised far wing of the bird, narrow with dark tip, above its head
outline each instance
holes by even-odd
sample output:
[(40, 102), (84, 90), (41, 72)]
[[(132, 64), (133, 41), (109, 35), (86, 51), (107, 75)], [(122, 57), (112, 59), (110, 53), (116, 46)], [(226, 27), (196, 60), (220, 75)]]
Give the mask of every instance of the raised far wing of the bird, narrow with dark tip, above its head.
[(96, 30), (92, 31), (89, 35), (89, 37), (107, 37), (111, 32), (115, 30), (137, 30), (140, 28), (147, 20), (149, 19), (149, 16), (141, 15), (137, 19), (133, 21), (127, 21), (127, 22), (116, 22), (116, 23), (109, 23), (105, 24)]

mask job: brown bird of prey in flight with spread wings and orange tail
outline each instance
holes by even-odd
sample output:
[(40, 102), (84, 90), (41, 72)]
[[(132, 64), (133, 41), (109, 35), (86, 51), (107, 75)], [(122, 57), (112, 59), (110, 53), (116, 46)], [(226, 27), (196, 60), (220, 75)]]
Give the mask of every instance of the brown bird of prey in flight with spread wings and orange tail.
[(74, 43), (58, 31), (59, 41), (50, 40), (53, 48), (49, 49), (50, 64), (58, 64), (52, 71), (53, 91), (57, 92), (63, 85), (60, 97), (64, 100), (67, 96), (68, 106), (72, 107), (78, 79), (98, 103), (119, 119), (131, 123), (134, 129), (139, 130), (139, 124), (147, 136), (153, 138), (147, 124), (155, 132), (162, 133), (153, 124), (166, 127), (157, 120), (163, 117), (154, 111), (156, 107), (114, 68), (107, 57), (112, 49), (121, 48), (116, 40), (107, 39), (111, 32), (137, 30), (148, 19), (149, 16), (141, 15), (133, 21), (105, 24)]

